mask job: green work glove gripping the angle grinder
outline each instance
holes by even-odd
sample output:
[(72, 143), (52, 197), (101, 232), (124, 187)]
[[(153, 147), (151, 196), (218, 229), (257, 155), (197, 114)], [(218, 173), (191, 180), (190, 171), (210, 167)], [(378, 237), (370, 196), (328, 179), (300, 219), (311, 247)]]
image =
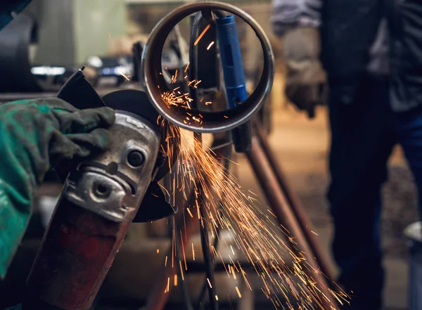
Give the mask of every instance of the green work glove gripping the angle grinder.
[(77, 110), (58, 98), (0, 105), (0, 278), (30, 219), (32, 196), (60, 160), (106, 150), (110, 108)]

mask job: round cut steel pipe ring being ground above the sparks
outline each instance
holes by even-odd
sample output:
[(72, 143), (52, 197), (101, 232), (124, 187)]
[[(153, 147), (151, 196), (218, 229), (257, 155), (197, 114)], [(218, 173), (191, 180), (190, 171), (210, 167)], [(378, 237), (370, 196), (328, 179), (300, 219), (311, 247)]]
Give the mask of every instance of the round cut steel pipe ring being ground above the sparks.
[[(202, 116), (202, 122), (186, 122), (186, 109), (173, 107), (169, 108), (162, 99), (162, 93), (170, 91), (162, 75), (161, 58), (165, 41), (181, 20), (193, 13), (203, 10), (220, 10), (237, 15), (244, 20), (255, 32), (262, 46), (264, 65), (260, 82), (249, 98), (236, 108), (221, 112), (207, 112), (202, 110), (188, 110), (191, 114), (196, 113)], [(221, 2), (196, 2), (185, 4), (167, 14), (162, 18), (148, 37), (145, 49), (142, 53), (142, 82), (154, 107), (166, 120), (177, 126), (197, 132), (221, 132), (234, 129), (239, 125), (248, 122), (255, 113), (260, 110), (264, 101), (269, 96), (274, 80), (274, 55), (267, 35), (261, 26), (250, 16), (236, 6)], [(185, 122), (184, 122), (185, 121)]]

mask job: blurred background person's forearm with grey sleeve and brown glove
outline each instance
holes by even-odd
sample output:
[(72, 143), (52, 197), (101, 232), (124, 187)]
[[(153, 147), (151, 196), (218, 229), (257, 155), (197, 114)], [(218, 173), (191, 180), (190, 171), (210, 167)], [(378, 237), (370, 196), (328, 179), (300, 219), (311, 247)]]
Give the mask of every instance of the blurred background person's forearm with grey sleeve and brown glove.
[(319, 60), (322, 5), (323, 0), (273, 0), (271, 23), (283, 39), (286, 96), (309, 117), (326, 93), (326, 74)]

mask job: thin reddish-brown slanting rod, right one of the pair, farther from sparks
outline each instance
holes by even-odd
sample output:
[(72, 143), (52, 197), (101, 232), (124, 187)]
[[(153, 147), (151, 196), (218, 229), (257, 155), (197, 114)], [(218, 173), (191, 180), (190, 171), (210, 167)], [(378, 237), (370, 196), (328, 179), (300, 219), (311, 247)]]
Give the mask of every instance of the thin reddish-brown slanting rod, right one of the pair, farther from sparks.
[(331, 264), (331, 261), (328, 260), (326, 254), (322, 252), (321, 246), (319, 245), (318, 240), (316, 240), (316, 236), (311, 233), (311, 221), (309, 221), (309, 217), (307, 217), (307, 214), (305, 213), (298, 196), (288, 185), (288, 182), (286, 181), (286, 176), (285, 174), (283, 174), (281, 164), (276, 159), (274, 152), (271, 150), (271, 146), (269, 146), (267, 138), (264, 136), (264, 132), (262, 132), (262, 129), (257, 125), (255, 126), (254, 130), (258, 140), (260, 141), (262, 150), (264, 151), (268, 162), (271, 165), (271, 169), (276, 175), (276, 179), (279, 182), (279, 186), (283, 191), (286, 200), (288, 201), (288, 205), (290, 205), (292, 212), (295, 214), (295, 217), (298, 220), (298, 224), (302, 228), (307, 243), (309, 244), (309, 247), (311, 247), (312, 252), (315, 255), (316, 261), (318, 261), (319, 266), (321, 266), (321, 271), (328, 278), (332, 278), (334, 274), (333, 264)]

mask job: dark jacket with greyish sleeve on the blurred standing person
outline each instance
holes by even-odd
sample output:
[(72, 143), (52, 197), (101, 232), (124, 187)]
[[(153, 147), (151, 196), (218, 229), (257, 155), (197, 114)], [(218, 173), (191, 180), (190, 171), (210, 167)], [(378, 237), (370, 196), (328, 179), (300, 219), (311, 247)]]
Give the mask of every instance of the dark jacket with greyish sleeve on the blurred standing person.
[(274, 32), (319, 27), (331, 89), (353, 96), (364, 76), (389, 77), (397, 112), (422, 106), (421, 0), (273, 0)]

